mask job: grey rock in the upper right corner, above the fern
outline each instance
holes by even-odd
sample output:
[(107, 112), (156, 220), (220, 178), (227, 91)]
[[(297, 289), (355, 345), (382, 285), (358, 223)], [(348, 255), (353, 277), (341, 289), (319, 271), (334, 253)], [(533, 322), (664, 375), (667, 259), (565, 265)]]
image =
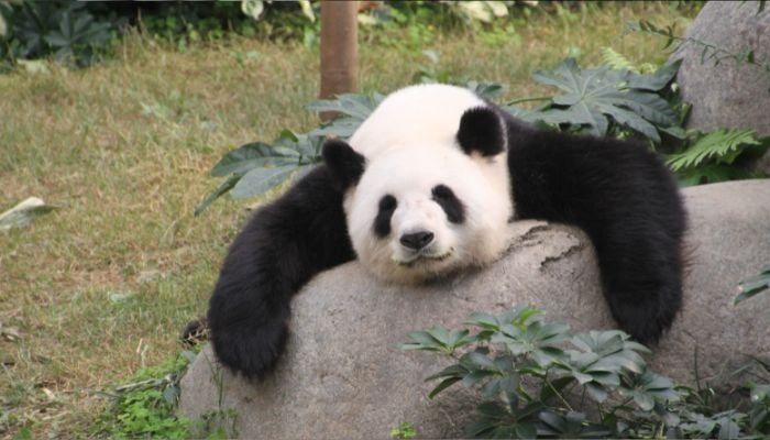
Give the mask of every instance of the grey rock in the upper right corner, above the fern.
[[(755, 50), (758, 63), (770, 62), (770, 8), (757, 13), (757, 1), (710, 1), (685, 36), (729, 53)], [(682, 58), (678, 82), (685, 101), (693, 105), (689, 127), (701, 130), (750, 128), (770, 135), (770, 73), (761, 67), (724, 59), (702, 62), (703, 46), (685, 44), (671, 55)]]

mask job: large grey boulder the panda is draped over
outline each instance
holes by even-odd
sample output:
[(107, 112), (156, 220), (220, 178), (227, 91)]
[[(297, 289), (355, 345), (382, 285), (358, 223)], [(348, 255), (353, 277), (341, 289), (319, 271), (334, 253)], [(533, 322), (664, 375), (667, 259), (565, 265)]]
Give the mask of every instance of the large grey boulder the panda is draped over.
[[(708, 381), (770, 353), (770, 294), (733, 306), (736, 283), (770, 263), (770, 180), (693, 187), (684, 309), (650, 359), (678, 381)], [(234, 409), (243, 438), (386, 438), (403, 421), (421, 437), (459, 437), (473, 402), (461, 386), (435, 400), (424, 378), (437, 356), (402, 352), (408, 331), (459, 326), (473, 311), (528, 302), (573, 329), (614, 327), (585, 235), (562, 226), (516, 224), (520, 238), (484, 271), (420, 288), (384, 286), (350, 263), (321, 274), (294, 301), (293, 333), (277, 373), (252, 384), (206, 349), (182, 382), (188, 417)]]

